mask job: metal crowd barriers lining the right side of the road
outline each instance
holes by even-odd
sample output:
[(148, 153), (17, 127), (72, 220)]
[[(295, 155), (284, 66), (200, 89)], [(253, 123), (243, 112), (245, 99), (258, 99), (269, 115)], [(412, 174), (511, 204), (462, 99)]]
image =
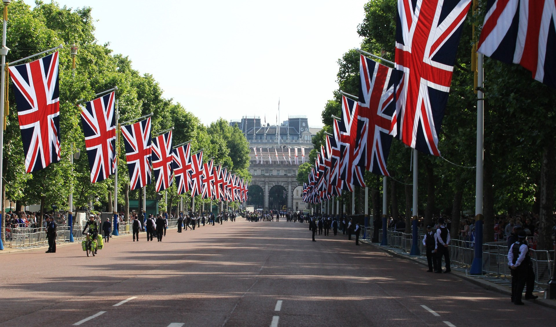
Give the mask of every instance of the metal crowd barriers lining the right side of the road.
[[(383, 231), (379, 230), (378, 237), (375, 242), (379, 244), (383, 239)], [(426, 249), (423, 245), (423, 231), (419, 231), (419, 250), (421, 251), (421, 259), (426, 260)], [(366, 227), (364, 239), (373, 241), (374, 227)], [(398, 249), (406, 254), (411, 251), (413, 236), (404, 232), (387, 231), (388, 246)], [(475, 256), (474, 243), (466, 240), (451, 239), (450, 240), (450, 261), (454, 267), (468, 269), (473, 263)], [(489, 242), (483, 244), (483, 277), (499, 280), (512, 279), (510, 268), (508, 266), (508, 246), (506, 241)], [(543, 290), (548, 286), (548, 281), (552, 275), (554, 250), (530, 250), (531, 260), (533, 262), (533, 270), (535, 271), (535, 289)]]

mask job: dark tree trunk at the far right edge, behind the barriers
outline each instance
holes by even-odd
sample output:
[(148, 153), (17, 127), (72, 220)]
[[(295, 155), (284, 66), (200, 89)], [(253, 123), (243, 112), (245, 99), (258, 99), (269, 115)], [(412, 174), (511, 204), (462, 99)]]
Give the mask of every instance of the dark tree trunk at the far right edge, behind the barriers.
[(553, 249), (554, 152), (554, 137), (548, 136), (543, 146), (543, 161), (540, 167), (540, 214), (537, 250)]

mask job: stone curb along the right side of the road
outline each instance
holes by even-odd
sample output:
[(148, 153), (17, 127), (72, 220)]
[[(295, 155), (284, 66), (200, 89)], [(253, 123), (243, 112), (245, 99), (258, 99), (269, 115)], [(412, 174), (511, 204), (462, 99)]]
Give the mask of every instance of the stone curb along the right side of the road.
[[(396, 251), (391, 250), (389, 247), (380, 246), (377, 243), (372, 243), (368, 240), (359, 240), (359, 241), (364, 243), (364, 244), (368, 244), (370, 246), (373, 246), (373, 247), (375, 247), (375, 249), (379, 249), (381, 251), (384, 251), (384, 252), (390, 254), (391, 256), (397, 257), (399, 259), (405, 259), (405, 260), (410, 260), (410, 261), (413, 261), (413, 262), (417, 262), (418, 264), (421, 264), (423, 266), (428, 265), (425, 261), (420, 260), (417, 257), (411, 257), (409, 255), (402, 255), (402, 254), (400, 254)], [(452, 269), (450, 274), (454, 275), (454, 276), (456, 276), (460, 279), (469, 281), (470, 283), (472, 283), (476, 286), (480, 286), (481, 288), (484, 288), (485, 290), (490, 290), (490, 291), (494, 291), (496, 293), (508, 295), (508, 297), (512, 295), (512, 291), (510, 289), (508, 289), (507, 286), (502, 286), (502, 285), (498, 285), (498, 284), (495, 284), (495, 283), (490, 283), (489, 281), (485, 281), (485, 280), (480, 279), (480, 278), (475, 278), (475, 277), (472, 277), (472, 276), (468, 276), (468, 275), (462, 273), (461, 271), (456, 271), (454, 269)], [(538, 305), (542, 305), (542, 306), (545, 306), (545, 307), (550, 308), (550, 309), (556, 309), (556, 300), (541, 299), (540, 296), (539, 296), (539, 298), (536, 299), (536, 300), (525, 300), (525, 301), (528, 301), (530, 303), (535, 303), (535, 304), (538, 304)]]

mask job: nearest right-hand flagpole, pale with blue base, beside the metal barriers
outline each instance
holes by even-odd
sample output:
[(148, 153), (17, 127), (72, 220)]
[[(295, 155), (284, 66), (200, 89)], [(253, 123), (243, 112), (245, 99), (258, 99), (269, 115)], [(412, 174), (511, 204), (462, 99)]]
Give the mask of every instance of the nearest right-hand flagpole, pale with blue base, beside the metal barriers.
[[(484, 67), (483, 54), (477, 57), (477, 153), (475, 170), (475, 256), (469, 274), (483, 274), (483, 156), (484, 156)], [(553, 272), (554, 274), (554, 272)]]

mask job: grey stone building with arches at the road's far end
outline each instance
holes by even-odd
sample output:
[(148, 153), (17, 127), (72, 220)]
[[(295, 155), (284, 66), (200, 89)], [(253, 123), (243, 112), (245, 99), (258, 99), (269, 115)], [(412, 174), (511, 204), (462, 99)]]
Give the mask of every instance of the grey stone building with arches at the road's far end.
[[(246, 205), (264, 210), (305, 209), (306, 204), (301, 201), (302, 185), (296, 179), (297, 169), (303, 162), (301, 148), (305, 148), (307, 160), (313, 147), (311, 139), (321, 128), (309, 127), (305, 116), (290, 116), (280, 126), (265, 125), (260, 117), (245, 116), (230, 125), (245, 133), (251, 148), (249, 172), (253, 178)], [(298, 164), (295, 163), (296, 148)]]

